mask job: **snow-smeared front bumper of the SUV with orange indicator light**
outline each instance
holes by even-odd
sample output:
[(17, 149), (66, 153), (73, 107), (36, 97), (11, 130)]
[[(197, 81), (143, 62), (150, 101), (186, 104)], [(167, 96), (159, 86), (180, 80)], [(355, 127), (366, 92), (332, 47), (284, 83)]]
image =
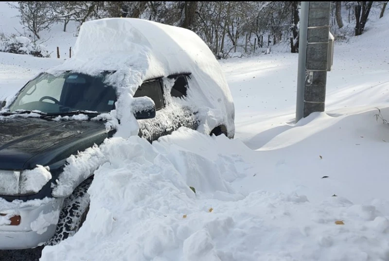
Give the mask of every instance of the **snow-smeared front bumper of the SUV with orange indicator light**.
[(46, 198), (20, 204), (0, 201), (0, 213), (20, 216), (18, 226), (0, 223), (0, 249), (27, 249), (46, 243), (55, 233), (63, 201), (63, 198)]

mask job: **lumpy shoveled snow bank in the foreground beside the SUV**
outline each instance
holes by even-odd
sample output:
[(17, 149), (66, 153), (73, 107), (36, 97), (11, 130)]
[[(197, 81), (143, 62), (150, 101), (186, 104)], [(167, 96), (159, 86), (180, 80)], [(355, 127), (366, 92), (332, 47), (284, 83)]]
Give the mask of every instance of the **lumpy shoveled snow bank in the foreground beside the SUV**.
[(240, 155), (257, 153), (238, 140), (181, 128), (153, 145), (102, 147), (109, 162), (95, 172), (86, 222), (41, 261), (388, 259), (389, 221), (373, 206), (232, 189), (252, 171)]

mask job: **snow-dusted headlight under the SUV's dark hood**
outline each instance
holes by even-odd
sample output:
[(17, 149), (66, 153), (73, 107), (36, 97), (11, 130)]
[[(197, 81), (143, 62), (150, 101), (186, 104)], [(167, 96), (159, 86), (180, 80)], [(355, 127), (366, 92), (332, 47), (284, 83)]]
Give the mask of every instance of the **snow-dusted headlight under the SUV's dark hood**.
[[(0, 195), (19, 196), (37, 193), (48, 180), (39, 180), (37, 176), (32, 176), (29, 172), (32, 171), (20, 172), (0, 170)], [(40, 184), (38, 184), (38, 187), (31, 186), (31, 181), (35, 178), (41, 181)]]

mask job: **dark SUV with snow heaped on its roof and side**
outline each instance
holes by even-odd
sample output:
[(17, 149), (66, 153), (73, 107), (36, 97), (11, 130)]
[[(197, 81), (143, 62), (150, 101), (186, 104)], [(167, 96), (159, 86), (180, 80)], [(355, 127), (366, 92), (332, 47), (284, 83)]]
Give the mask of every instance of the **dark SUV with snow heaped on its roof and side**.
[(74, 52), (0, 111), (0, 249), (56, 244), (78, 230), (102, 157), (78, 155), (106, 139), (153, 142), (181, 126), (234, 136), (225, 76), (195, 33), (101, 19), (82, 25)]

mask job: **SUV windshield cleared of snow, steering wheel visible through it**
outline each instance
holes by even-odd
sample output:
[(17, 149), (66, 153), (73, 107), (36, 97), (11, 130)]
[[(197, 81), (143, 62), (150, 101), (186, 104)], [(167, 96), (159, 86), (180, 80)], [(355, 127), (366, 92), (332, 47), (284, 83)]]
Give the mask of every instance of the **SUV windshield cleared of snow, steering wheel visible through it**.
[(99, 76), (64, 72), (58, 76), (42, 73), (19, 93), (10, 111), (38, 110), (44, 113), (69, 111), (109, 112), (114, 109), (116, 93), (104, 83), (108, 72)]

